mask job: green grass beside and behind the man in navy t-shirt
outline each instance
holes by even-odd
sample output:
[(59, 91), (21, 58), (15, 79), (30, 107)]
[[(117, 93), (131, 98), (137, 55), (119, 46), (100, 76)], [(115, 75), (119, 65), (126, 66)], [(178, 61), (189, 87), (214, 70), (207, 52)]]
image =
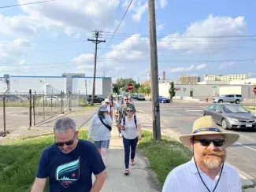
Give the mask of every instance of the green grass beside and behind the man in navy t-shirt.
[[(87, 139), (87, 131), (79, 138)], [(35, 179), (42, 150), (54, 143), (54, 136), (18, 139), (0, 145), (0, 191), (29, 192)], [(45, 191), (49, 191), (46, 185)]]

